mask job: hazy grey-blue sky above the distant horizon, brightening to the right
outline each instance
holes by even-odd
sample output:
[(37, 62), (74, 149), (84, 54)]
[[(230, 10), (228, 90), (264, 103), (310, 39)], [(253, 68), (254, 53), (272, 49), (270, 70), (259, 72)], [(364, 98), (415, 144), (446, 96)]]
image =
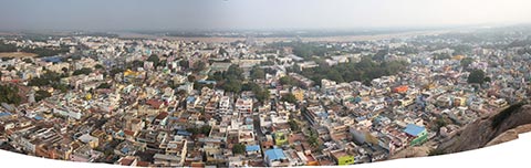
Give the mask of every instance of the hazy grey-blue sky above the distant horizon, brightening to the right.
[(356, 29), (530, 23), (531, 0), (0, 0), (0, 30)]

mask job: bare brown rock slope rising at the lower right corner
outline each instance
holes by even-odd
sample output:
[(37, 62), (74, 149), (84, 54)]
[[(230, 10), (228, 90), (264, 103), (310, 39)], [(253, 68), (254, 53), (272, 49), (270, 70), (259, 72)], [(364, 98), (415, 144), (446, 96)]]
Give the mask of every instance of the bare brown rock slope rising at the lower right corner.
[[(447, 154), (496, 145), (531, 130), (531, 105), (516, 104), (497, 114), (470, 123), (439, 146)], [(520, 127), (521, 126), (521, 127)]]

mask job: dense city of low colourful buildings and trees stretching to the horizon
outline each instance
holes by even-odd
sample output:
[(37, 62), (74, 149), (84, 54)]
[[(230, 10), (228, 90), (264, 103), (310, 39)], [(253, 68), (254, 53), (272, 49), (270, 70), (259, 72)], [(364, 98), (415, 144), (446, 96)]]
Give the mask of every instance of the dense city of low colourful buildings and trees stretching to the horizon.
[(441, 155), (531, 95), (529, 29), (353, 42), (0, 38), (0, 148), (139, 167)]

